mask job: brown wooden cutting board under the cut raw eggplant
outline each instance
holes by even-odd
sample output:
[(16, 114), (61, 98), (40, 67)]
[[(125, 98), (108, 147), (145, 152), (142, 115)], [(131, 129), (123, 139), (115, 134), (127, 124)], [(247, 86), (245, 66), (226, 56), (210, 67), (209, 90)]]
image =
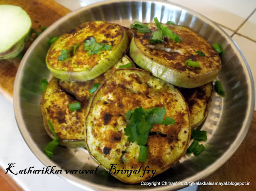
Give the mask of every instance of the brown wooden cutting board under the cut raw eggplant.
[[(69, 9), (53, 0), (0, 0), (0, 4), (20, 6), (30, 16), (32, 21), (31, 28), (37, 29), (38, 32), (42, 32), (40, 27), (48, 27), (56, 20), (71, 12)], [(33, 33), (30, 40), (26, 43), (22, 53), (27, 51), (34, 39), (36, 39), (36, 35)], [(14, 79), (20, 61), (21, 59), (18, 58), (0, 60), (0, 93), (11, 102)]]

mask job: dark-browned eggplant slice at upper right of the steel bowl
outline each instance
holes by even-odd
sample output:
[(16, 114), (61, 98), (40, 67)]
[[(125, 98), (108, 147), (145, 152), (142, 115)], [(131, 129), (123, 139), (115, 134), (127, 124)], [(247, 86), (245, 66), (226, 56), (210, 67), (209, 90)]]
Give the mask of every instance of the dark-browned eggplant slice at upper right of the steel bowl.
[[(180, 43), (164, 37), (162, 43), (150, 43), (151, 33), (139, 33), (133, 29), (130, 56), (136, 64), (166, 82), (178, 87), (194, 88), (214, 81), (221, 69), (218, 53), (202, 36), (184, 26), (162, 24), (182, 38)], [(155, 24), (148, 24), (152, 32)], [(205, 56), (199, 55), (201, 51)], [(200, 67), (187, 66), (186, 61), (198, 61)]]

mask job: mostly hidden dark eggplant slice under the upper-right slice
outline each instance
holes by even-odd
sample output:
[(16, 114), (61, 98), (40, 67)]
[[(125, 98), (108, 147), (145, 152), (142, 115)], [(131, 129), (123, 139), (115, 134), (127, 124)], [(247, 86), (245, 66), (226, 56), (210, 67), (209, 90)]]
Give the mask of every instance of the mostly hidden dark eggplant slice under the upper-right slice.
[(197, 88), (179, 88), (179, 90), (188, 104), (190, 125), (194, 129), (202, 124), (208, 115), (214, 95), (212, 82)]

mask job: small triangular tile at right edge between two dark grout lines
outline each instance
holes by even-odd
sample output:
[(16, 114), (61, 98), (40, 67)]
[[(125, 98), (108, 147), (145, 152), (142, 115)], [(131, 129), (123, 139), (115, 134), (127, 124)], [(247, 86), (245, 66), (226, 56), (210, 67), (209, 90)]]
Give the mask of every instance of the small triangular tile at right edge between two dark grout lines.
[(256, 40), (256, 12), (238, 30), (238, 33)]

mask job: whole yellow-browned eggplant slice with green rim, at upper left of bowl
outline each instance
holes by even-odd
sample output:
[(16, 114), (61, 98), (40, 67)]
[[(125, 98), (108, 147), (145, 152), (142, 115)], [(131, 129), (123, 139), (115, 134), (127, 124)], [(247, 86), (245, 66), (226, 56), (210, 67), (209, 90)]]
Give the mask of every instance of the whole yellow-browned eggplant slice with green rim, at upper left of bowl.
[[(84, 43), (92, 51), (86, 50)], [(102, 44), (107, 48), (102, 47), (97, 52)], [(58, 37), (48, 50), (46, 64), (58, 79), (88, 81), (112, 67), (122, 57), (127, 44), (128, 36), (122, 26), (103, 21), (88, 22)], [(75, 51), (72, 45), (78, 45)]]

